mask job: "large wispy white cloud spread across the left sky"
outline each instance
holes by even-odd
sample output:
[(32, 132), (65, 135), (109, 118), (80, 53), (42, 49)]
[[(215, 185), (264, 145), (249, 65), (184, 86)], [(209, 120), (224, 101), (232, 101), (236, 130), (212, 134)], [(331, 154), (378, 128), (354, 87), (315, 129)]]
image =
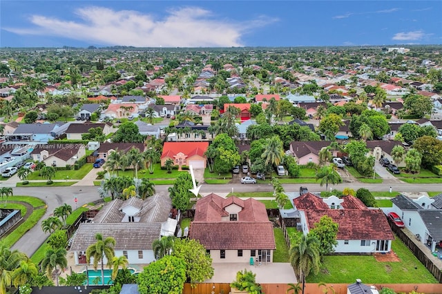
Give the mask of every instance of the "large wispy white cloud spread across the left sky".
[(162, 19), (134, 10), (89, 6), (75, 11), (80, 21), (33, 15), (33, 28), (3, 28), (19, 35), (65, 37), (90, 43), (136, 47), (242, 46), (249, 30), (278, 21), (258, 17), (243, 23), (216, 19), (198, 7), (169, 10)]

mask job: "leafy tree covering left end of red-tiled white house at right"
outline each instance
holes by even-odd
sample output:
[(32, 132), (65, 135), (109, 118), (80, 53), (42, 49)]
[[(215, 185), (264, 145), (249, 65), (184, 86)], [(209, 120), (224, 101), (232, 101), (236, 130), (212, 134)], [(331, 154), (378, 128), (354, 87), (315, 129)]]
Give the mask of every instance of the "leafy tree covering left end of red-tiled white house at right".
[(339, 225), (333, 221), (332, 217), (324, 215), (310, 230), (309, 233), (318, 239), (318, 249), (321, 255), (334, 252), (334, 248), (338, 245), (336, 241), (338, 228)]

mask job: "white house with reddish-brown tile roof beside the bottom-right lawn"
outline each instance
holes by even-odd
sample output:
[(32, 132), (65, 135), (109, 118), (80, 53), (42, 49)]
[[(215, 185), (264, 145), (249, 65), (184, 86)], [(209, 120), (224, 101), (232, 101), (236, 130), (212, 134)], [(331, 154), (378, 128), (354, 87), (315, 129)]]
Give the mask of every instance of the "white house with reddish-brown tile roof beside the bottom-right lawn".
[(367, 208), (352, 195), (339, 199), (306, 193), (294, 199), (294, 206), (300, 212), (304, 234), (324, 215), (339, 225), (335, 253), (388, 253), (391, 250), (394, 235), (383, 211)]

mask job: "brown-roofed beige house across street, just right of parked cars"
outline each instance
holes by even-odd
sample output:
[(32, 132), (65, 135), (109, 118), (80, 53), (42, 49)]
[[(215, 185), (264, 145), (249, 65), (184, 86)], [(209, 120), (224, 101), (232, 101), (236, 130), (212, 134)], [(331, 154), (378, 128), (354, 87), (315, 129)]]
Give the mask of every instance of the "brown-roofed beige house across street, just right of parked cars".
[[(322, 148), (330, 146), (330, 141), (293, 141), (290, 143), (289, 153), (293, 155), (298, 164), (305, 165), (309, 162), (319, 164), (319, 152)], [(331, 150), (333, 156), (336, 150)]]

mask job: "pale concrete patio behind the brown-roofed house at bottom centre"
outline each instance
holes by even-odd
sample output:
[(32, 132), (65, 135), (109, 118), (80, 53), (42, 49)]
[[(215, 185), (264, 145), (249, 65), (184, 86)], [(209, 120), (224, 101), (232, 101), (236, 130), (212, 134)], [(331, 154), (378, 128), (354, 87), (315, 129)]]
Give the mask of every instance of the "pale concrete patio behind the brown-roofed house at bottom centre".
[(215, 269), (214, 275), (206, 283), (231, 283), (236, 279), (238, 271), (252, 271), (256, 273), (256, 282), (260, 284), (296, 284), (296, 275), (289, 263), (270, 262), (268, 264), (261, 264), (260, 266), (251, 266), (245, 263), (225, 263), (212, 264)]

